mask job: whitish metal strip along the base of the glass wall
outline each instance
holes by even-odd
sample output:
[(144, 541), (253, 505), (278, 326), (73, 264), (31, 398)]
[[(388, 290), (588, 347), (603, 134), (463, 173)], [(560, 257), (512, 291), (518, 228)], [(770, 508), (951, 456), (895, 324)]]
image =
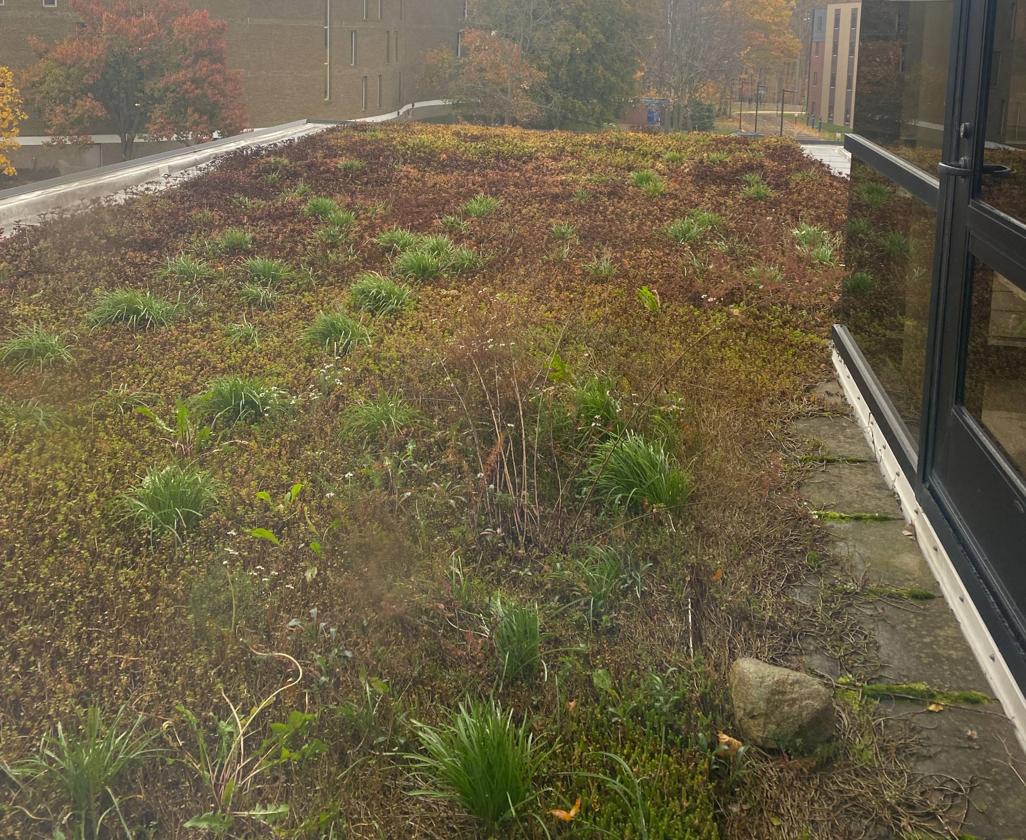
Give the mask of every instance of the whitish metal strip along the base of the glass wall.
[(912, 483), (895, 456), (887, 439), (859, 390), (859, 385), (844, 359), (833, 350), (833, 364), (844, 391), (844, 397), (855, 411), (866, 441), (876, 456), (877, 466), (887, 486), (897, 493), (906, 521), (915, 527), (915, 542), (941, 587), (944, 599), (955, 615), (973, 655), (1000, 702), (1004, 715), (1015, 726), (1020, 746), (1026, 750), (1026, 697), (1001, 655), (976, 604), (952, 563), (934, 523), (916, 501)]

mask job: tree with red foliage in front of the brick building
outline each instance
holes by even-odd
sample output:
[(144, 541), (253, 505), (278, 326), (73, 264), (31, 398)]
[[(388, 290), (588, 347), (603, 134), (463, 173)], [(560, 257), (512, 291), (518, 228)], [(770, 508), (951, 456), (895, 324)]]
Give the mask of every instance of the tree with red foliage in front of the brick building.
[(79, 27), (54, 46), (30, 39), (29, 74), (47, 133), (86, 141), (97, 126), (131, 157), (140, 134), (200, 143), (248, 122), (242, 74), (228, 69), (224, 21), (179, 0), (71, 0)]

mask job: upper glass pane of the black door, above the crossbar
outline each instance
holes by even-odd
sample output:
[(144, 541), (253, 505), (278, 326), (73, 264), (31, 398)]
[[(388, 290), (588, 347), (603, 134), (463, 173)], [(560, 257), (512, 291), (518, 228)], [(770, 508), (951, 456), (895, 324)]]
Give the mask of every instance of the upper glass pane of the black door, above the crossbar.
[(983, 157), (1012, 172), (984, 174), (980, 197), (1026, 222), (1026, 14), (1018, 12), (1015, 0), (997, 0), (996, 13)]

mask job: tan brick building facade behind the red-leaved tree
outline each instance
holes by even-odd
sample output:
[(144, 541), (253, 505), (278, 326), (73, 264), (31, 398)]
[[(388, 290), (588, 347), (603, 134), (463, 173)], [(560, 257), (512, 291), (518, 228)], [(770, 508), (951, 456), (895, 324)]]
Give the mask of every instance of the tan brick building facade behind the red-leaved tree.
[[(465, 0), (190, 0), (228, 23), (228, 61), (241, 70), (253, 127), (302, 118), (345, 120), (396, 111), (419, 91), (421, 59), (458, 48)], [(30, 35), (75, 30), (68, 0), (0, 0), (0, 65), (34, 61)], [(37, 118), (22, 134), (42, 134)]]

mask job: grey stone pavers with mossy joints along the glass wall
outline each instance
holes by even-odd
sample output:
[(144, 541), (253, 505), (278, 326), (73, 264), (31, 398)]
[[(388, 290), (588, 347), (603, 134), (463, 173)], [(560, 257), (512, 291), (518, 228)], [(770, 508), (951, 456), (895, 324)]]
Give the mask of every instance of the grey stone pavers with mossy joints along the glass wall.
[[(832, 563), (823, 577), (831, 586), (851, 582), (861, 592), (921, 590), (916, 600), (899, 594), (867, 602), (858, 612), (875, 638), (879, 673), (875, 681), (887, 684), (925, 683), (945, 691), (980, 691), (990, 687), (976, 663), (954, 614), (925, 559), (908, 533), (901, 508), (884, 484), (873, 453), (858, 424), (852, 419), (840, 386), (830, 383), (817, 396), (833, 412), (799, 419), (794, 431), (810, 441), (808, 451), (823, 456), (801, 487), (810, 509), (836, 514), (877, 514), (882, 519), (821, 517), (829, 534)], [(837, 462), (837, 458), (843, 461)], [(855, 463), (849, 463), (855, 462)], [(806, 589), (806, 588), (803, 588)], [(808, 597), (804, 593), (803, 597)], [(816, 650), (806, 651), (805, 666), (830, 679), (837, 663)], [(952, 837), (987, 840), (1026, 837), (1026, 756), (1013, 724), (996, 703), (984, 706), (945, 705), (929, 711), (924, 701), (882, 701), (881, 711), (892, 723), (909, 722), (923, 746), (916, 770), (926, 793), (939, 777), (971, 786), (962, 810), (950, 813)], [(958, 819), (963, 822), (959, 825)]]

